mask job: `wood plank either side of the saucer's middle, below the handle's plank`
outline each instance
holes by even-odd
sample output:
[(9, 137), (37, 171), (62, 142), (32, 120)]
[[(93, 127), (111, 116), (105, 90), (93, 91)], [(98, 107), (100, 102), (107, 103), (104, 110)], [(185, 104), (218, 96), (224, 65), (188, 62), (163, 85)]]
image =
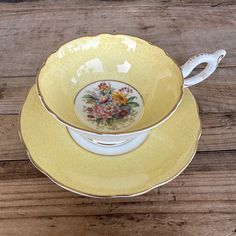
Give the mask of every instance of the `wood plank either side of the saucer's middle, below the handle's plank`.
[[(236, 113), (201, 114), (201, 120), (198, 151), (235, 150)], [(0, 160), (27, 159), (17, 127), (17, 115), (0, 115)]]

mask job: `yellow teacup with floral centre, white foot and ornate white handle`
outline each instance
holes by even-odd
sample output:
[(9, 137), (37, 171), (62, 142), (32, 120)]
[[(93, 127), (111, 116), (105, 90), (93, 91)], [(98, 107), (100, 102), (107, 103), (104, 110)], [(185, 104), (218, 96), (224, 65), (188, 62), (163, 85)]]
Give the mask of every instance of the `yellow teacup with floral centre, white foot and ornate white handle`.
[[(83, 37), (48, 57), (37, 89), (76, 143), (119, 155), (143, 143), (175, 112), (183, 89), (209, 77), (225, 54), (199, 54), (179, 67), (163, 49), (133, 36)], [(201, 63), (206, 67), (188, 77)]]

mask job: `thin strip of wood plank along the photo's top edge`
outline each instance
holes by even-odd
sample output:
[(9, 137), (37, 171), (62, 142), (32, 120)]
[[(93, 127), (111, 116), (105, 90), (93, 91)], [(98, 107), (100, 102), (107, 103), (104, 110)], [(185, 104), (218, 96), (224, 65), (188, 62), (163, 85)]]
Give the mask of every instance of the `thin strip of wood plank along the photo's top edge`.
[[(12, 4), (16, 3), (16, 4)], [(91, 7), (96, 8), (103, 8), (103, 7), (132, 7), (132, 6), (159, 6), (159, 7), (170, 7), (170, 6), (210, 6), (210, 7), (222, 7), (227, 6), (228, 8), (235, 6), (234, 0), (164, 0), (164, 1), (156, 1), (156, 0), (5, 0), (0, 2), (1, 11), (15, 11), (15, 10), (28, 10), (32, 9), (45, 9), (45, 5), (50, 8), (60, 9), (60, 8), (87, 8), (90, 9)]]

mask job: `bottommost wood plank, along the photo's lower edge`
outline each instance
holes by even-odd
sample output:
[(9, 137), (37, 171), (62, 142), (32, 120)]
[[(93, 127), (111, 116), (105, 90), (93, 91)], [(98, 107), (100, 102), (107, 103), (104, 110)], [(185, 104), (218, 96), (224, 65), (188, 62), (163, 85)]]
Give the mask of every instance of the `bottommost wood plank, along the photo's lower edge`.
[(224, 235), (234, 236), (234, 214), (120, 214), (18, 218), (0, 221), (1, 235)]

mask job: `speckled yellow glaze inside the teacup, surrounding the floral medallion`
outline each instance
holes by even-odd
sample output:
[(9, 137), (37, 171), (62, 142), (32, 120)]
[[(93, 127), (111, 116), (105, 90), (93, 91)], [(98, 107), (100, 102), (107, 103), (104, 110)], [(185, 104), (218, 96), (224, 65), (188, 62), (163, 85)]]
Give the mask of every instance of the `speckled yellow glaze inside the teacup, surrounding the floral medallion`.
[(79, 38), (60, 47), (42, 66), (37, 85), (44, 105), (64, 124), (99, 133), (78, 119), (74, 107), (77, 93), (98, 80), (125, 82), (143, 97), (143, 116), (125, 133), (161, 122), (183, 93), (181, 71), (165, 51), (136, 37), (109, 34)]

